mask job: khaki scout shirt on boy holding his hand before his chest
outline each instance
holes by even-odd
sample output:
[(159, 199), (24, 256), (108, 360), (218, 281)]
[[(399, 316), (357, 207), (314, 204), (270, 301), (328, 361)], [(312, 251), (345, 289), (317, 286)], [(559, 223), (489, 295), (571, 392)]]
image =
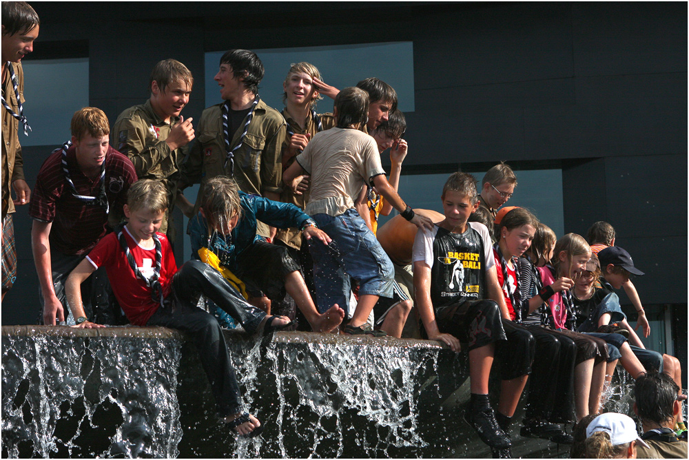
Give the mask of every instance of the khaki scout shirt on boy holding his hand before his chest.
[(169, 206), (160, 231), (167, 231), (167, 237), (171, 241), (174, 240), (172, 209), (180, 176), (178, 165), (182, 163), (187, 149), (180, 147), (170, 150), (165, 140), (178, 122), (179, 117), (173, 116), (169, 124), (165, 123), (148, 100), (122, 112), (113, 127), (114, 135), (117, 136), (116, 150), (132, 160), (138, 178), (160, 180), (165, 185)]

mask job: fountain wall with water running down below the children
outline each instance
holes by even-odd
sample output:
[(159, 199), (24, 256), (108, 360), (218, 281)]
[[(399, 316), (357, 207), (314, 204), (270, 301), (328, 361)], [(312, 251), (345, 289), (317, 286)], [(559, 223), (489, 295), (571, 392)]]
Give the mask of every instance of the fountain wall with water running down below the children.
[[(491, 457), (461, 417), (466, 355), (438, 342), (226, 335), (255, 439), (218, 424), (176, 331), (3, 326), (3, 457)], [(515, 457), (568, 454), (512, 438)]]

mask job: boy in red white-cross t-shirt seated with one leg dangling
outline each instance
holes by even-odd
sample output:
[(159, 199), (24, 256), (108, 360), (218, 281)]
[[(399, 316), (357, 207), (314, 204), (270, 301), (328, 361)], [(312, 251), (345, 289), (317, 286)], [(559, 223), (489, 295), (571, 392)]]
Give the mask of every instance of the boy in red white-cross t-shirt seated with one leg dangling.
[(196, 307), (196, 298), (201, 293), (213, 300), (249, 332), (276, 331), (289, 320), (251, 306), (223, 275), (203, 262), (190, 260), (178, 271), (167, 238), (158, 233), (165, 209), (167, 191), (162, 182), (143, 179), (130, 187), (124, 205), (127, 224), (105, 236), (67, 280), (74, 327), (103, 327), (86, 320), (79, 286), (105, 266), (112, 291), (132, 324), (177, 328), (192, 335), (220, 419), (239, 435), (253, 437), (263, 426), (245, 412), (223, 331), (213, 315)]

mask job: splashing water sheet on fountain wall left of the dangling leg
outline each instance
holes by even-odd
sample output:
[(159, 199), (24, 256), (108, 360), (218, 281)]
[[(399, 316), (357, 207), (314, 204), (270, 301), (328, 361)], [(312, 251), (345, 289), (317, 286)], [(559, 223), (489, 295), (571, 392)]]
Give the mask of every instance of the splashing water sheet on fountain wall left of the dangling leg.
[(180, 339), (3, 331), (2, 345), (3, 457), (178, 454)]

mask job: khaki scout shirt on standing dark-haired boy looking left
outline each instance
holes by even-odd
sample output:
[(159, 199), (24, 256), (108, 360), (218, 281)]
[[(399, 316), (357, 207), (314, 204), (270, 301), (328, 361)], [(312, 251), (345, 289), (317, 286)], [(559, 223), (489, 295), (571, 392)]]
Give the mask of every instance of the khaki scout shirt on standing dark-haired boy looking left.
[[(181, 169), (182, 188), (196, 183), (201, 185), (194, 205), (195, 213), (207, 180), (220, 175), (233, 176), (232, 171), (225, 170), (227, 152), (223, 138), (222, 105), (212, 105), (201, 114), (196, 128), (196, 142)], [(245, 123), (246, 118), (232, 137), (231, 149), (238, 145)], [(286, 132), (285, 119), (280, 112), (268, 107), (263, 100), (258, 101), (242, 146), (234, 152), (234, 179), (240, 190), (260, 196), (265, 196), (265, 192), (279, 194), (282, 191), (280, 148)], [(268, 226), (263, 222), (258, 222), (257, 229), (262, 236), (269, 234)]]

